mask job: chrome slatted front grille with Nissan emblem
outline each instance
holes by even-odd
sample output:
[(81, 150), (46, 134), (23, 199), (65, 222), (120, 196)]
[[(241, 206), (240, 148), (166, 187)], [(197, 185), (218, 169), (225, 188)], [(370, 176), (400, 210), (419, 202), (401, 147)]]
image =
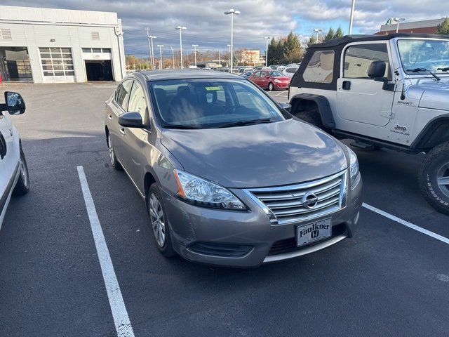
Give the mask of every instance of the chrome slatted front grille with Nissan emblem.
[[(268, 214), (272, 224), (310, 220), (342, 209), (346, 202), (346, 171), (309, 183), (248, 189), (246, 192)], [(307, 206), (307, 196), (317, 200)], [(307, 202), (307, 201), (306, 201)]]

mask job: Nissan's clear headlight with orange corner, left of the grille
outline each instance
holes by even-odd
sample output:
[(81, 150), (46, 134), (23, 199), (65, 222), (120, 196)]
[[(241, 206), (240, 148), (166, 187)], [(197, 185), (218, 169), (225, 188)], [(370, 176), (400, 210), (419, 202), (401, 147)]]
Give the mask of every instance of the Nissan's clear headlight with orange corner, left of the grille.
[(225, 187), (193, 174), (173, 170), (177, 183), (177, 197), (197, 206), (217, 209), (246, 210), (245, 204)]

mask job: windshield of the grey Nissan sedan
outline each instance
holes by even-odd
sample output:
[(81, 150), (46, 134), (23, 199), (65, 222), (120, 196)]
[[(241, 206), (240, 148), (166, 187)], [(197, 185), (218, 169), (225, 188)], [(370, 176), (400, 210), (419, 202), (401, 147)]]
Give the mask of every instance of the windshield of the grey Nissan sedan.
[(220, 128), (286, 119), (246, 80), (176, 79), (150, 84), (165, 128)]

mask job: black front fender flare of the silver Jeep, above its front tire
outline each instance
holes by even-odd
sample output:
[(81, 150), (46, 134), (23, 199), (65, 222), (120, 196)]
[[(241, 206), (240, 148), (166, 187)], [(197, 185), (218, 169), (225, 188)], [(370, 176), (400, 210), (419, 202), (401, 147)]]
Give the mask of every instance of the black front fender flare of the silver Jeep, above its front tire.
[(410, 148), (428, 151), (436, 145), (449, 141), (449, 114), (438, 116), (427, 123)]

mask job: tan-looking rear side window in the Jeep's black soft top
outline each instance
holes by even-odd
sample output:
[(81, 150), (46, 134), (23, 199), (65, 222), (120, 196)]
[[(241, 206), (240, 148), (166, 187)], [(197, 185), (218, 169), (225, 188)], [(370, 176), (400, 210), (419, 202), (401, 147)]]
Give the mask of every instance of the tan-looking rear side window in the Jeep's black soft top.
[(316, 51), (302, 77), (306, 82), (332, 83), (334, 73), (334, 52)]

